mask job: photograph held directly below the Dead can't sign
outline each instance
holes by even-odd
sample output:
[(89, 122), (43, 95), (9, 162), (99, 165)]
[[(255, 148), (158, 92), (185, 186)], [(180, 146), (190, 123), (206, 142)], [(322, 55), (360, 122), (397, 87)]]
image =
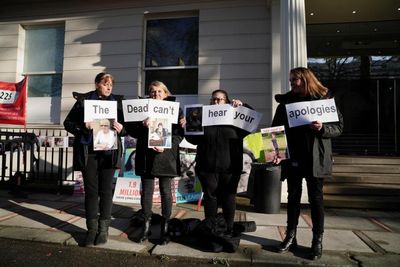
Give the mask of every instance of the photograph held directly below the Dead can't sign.
[(152, 118), (149, 125), (148, 147), (171, 148), (172, 124), (165, 118)]

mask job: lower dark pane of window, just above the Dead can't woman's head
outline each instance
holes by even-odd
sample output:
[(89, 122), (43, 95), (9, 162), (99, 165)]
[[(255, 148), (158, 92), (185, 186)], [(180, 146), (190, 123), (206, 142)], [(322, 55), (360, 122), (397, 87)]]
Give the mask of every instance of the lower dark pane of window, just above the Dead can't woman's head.
[(173, 95), (195, 95), (197, 76), (197, 69), (146, 71), (145, 94), (148, 94), (149, 84), (158, 80), (165, 83)]

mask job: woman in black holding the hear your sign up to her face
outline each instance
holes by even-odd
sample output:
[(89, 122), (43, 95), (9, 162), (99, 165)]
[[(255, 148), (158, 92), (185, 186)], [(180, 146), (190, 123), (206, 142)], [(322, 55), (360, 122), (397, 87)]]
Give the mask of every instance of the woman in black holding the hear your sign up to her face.
[[(242, 101), (229, 100), (224, 90), (215, 90), (211, 105), (231, 104), (246, 106)], [(250, 107), (249, 107), (250, 108)], [(205, 126), (203, 135), (187, 135), (186, 139), (197, 145), (196, 173), (204, 192), (204, 215), (210, 233), (217, 229), (218, 205), (221, 204), (226, 231), (226, 240), (232, 237), (236, 210), (236, 192), (243, 168), (243, 138), (249, 132), (231, 125)], [(229, 243), (229, 242), (228, 242)], [(236, 247), (224, 247), (232, 252)]]

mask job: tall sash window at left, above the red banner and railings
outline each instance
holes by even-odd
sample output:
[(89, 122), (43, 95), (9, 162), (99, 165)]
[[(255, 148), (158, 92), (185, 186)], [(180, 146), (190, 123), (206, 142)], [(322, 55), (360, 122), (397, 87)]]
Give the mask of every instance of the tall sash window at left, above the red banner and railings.
[(27, 122), (59, 123), (64, 25), (25, 26), (24, 75), (28, 76)]

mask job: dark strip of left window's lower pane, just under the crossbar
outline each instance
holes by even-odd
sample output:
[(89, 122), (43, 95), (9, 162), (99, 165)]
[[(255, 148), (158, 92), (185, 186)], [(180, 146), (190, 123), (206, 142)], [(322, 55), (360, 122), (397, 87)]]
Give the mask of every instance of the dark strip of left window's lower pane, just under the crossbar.
[(29, 97), (59, 97), (61, 96), (61, 74), (29, 75)]

